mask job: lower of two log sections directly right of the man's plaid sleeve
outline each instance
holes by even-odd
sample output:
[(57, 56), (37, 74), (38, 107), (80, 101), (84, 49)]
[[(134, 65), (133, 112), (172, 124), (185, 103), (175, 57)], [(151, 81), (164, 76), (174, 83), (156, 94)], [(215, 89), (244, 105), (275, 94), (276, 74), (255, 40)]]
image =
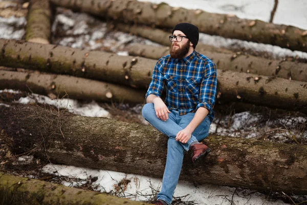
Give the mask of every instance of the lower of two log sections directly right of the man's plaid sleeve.
[(307, 113), (307, 83), (217, 70), (217, 98)]

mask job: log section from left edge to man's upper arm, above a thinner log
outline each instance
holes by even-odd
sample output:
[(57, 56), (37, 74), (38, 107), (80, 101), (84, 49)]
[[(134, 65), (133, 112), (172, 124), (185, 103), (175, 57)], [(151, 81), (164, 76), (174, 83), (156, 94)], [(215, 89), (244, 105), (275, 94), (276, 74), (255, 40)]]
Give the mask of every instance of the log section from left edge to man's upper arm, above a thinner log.
[[(0, 39), (0, 66), (26, 68), (146, 88), (155, 60)], [(145, 81), (145, 83), (144, 83)]]

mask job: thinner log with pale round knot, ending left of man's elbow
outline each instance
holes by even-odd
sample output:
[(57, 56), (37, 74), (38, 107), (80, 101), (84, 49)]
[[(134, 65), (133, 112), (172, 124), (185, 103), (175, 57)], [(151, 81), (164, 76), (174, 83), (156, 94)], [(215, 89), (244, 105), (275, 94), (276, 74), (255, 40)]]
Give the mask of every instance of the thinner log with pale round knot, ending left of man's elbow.
[(0, 70), (0, 89), (32, 91), (48, 95), (50, 98), (62, 97), (67, 93), (67, 97), (73, 99), (94, 99), (121, 103), (143, 103), (146, 92), (67, 75), (4, 70)]

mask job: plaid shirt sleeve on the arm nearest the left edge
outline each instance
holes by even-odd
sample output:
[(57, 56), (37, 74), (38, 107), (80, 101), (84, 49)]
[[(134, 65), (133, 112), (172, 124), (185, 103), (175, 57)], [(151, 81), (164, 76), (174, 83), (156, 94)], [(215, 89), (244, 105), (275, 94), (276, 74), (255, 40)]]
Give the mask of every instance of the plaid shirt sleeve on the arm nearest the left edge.
[(149, 88), (146, 92), (145, 99), (150, 94), (161, 97), (163, 89), (164, 89), (163, 58), (160, 58), (157, 61), (155, 68), (153, 69), (152, 76), (151, 76), (151, 82), (150, 82)]

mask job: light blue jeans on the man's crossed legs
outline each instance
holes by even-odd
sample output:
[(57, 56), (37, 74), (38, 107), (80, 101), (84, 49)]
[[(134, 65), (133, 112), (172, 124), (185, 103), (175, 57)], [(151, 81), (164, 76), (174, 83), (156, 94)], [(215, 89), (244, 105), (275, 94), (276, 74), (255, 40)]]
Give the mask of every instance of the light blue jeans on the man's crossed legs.
[(158, 193), (157, 199), (162, 199), (170, 204), (181, 172), (184, 150), (188, 151), (193, 141), (201, 141), (208, 136), (211, 122), (206, 116), (194, 130), (189, 141), (183, 144), (176, 141), (176, 135), (190, 123), (195, 113), (179, 115), (178, 111), (172, 110), (171, 113), (168, 113), (168, 119), (163, 121), (156, 116), (153, 104), (147, 103), (142, 109), (142, 115), (153, 127), (169, 137), (162, 189)]

